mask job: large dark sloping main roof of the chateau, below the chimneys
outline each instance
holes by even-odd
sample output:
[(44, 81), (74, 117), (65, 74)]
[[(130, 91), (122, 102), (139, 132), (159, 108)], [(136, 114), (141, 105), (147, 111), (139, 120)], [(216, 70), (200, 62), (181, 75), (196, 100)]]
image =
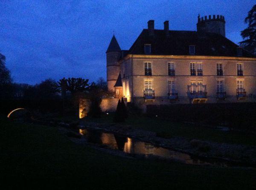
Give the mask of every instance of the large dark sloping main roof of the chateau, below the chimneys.
[[(197, 31), (169, 31), (169, 38), (164, 30), (154, 30), (154, 36), (143, 29), (131, 46), (128, 54), (145, 54), (144, 44), (151, 44), (151, 55), (189, 55), (189, 45), (195, 45), (195, 55), (201, 56), (237, 56), (239, 47), (221, 34), (198, 33)], [(256, 57), (242, 50), (242, 57)]]

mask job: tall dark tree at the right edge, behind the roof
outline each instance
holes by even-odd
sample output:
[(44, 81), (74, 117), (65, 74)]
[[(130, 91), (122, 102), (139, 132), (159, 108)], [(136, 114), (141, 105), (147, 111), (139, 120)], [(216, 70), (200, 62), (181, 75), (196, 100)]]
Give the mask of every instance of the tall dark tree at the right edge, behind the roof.
[(244, 41), (239, 44), (247, 51), (256, 54), (256, 5), (248, 12), (244, 22), (248, 23), (248, 27), (241, 31)]

